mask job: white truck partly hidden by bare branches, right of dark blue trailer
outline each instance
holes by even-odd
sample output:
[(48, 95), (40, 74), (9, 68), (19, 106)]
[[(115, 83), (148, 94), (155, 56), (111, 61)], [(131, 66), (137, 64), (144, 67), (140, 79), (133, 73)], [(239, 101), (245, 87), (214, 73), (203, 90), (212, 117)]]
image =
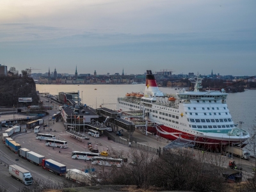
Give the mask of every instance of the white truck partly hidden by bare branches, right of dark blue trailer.
[(87, 184), (89, 186), (92, 186), (95, 183), (95, 177), (95, 175), (91, 175), (90, 173), (85, 173), (77, 169), (67, 170), (66, 173), (67, 180), (72, 180), (79, 184)]

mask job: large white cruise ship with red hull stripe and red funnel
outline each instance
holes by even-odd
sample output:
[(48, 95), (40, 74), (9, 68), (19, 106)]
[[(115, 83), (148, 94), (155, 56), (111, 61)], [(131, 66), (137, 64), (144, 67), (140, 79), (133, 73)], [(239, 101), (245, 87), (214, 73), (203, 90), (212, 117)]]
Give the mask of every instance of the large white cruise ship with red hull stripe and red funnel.
[[(147, 70), (144, 93), (127, 93), (118, 98), (118, 111), (143, 111), (154, 122), (147, 131), (169, 140), (194, 142), (207, 150), (225, 145), (244, 146), (250, 134), (237, 127), (227, 106), (225, 90), (201, 92), (202, 78), (195, 79), (194, 91), (179, 90), (168, 95), (159, 90), (151, 70)], [(133, 117), (134, 119), (134, 117)]]

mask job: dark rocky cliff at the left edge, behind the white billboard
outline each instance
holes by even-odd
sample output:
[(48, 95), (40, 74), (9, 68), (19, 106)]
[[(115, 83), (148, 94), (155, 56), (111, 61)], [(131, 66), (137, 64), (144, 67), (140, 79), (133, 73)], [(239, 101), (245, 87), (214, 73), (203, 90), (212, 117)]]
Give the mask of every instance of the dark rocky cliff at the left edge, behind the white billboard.
[[(21, 103), (19, 97), (32, 97), (32, 102)], [(38, 105), (36, 84), (30, 77), (0, 76), (0, 106), (15, 108)]]

